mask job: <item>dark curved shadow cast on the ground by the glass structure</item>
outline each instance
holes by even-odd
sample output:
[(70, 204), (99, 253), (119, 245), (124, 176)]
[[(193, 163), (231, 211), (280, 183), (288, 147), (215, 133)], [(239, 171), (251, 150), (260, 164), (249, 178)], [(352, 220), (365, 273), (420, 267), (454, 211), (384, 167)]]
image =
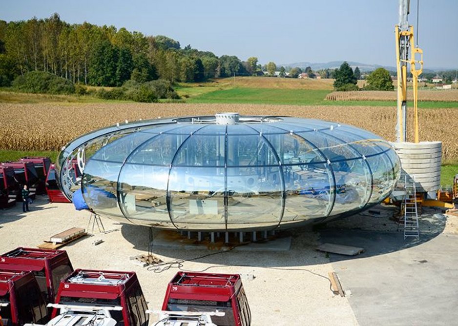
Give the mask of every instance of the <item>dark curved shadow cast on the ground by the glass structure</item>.
[[(420, 245), (441, 234), (445, 227), (445, 218), (435, 217), (436, 210), (428, 211), (421, 219), (422, 230), (420, 240), (409, 238), (404, 240), (402, 225), (397, 227), (396, 222), (386, 217), (354, 216), (329, 223), (326, 227), (314, 230), (312, 226), (280, 232), (280, 236), (291, 237), (291, 249), (288, 251), (226, 251), (220, 245), (208, 243), (208, 247), (196, 249), (154, 247), (153, 253), (165, 257), (166, 260), (193, 260), (207, 264), (222, 265), (250, 265), (264, 267), (293, 267), (316, 264), (327, 264), (330, 261), (359, 259), (403, 250)], [(441, 215), (441, 214), (436, 214)], [(361, 222), (363, 221), (363, 222)], [(375, 226), (374, 226), (375, 224)], [(123, 224), (121, 232), (124, 238), (138, 250), (148, 251), (148, 228), (145, 226)], [(158, 234), (153, 231), (153, 236)], [(176, 241), (183, 241), (186, 236), (176, 232)], [(342, 256), (328, 254), (316, 250), (323, 243), (351, 245), (363, 247), (365, 251), (358, 256)], [(239, 244), (235, 244), (239, 245)], [(205, 256), (205, 257), (204, 257)]]

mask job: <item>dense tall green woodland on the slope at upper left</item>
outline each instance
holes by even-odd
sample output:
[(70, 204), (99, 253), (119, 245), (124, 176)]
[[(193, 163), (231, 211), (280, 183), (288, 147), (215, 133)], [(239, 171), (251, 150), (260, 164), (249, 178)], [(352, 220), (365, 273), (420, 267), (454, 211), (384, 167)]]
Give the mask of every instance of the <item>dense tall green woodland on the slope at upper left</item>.
[(0, 20), (0, 85), (45, 71), (74, 83), (120, 86), (128, 80), (202, 82), (253, 75), (257, 58), (217, 57), (166, 36), (145, 36), (124, 27), (69, 24), (55, 13), (46, 19)]

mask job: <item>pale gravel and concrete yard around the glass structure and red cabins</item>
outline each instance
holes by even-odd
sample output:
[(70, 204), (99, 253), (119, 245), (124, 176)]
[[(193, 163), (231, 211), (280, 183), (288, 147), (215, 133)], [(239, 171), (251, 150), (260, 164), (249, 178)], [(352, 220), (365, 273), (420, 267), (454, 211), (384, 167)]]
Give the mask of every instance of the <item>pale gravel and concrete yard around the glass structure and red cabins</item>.
[[(48, 204), (38, 198), (32, 211), (20, 205), (0, 210), (0, 252), (36, 246), (67, 228), (87, 227), (88, 212), (71, 204)], [(458, 258), (456, 220), (427, 211), (421, 220), (420, 242), (404, 241), (386, 214), (366, 214), (330, 223), (319, 232), (291, 231), (287, 252), (229, 251), (186, 261), (217, 250), (153, 248), (165, 262), (185, 260), (182, 268), (250, 274), (243, 279), (251, 307), (252, 325), (450, 325), (458, 317), (454, 285)], [(145, 254), (148, 229), (103, 218), (106, 233), (96, 233), (66, 245), (74, 267), (137, 272), (148, 307), (162, 306), (168, 281), (177, 264), (162, 272), (140, 267), (130, 256)], [(357, 227), (357, 228), (356, 228)], [(104, 242), (94, 246), (92, 243)], [(346, 258), (315, 250), (320, 243), (362, 246), (366, 251)], [(165, 268), (164, 268), (165, 267)], [(328, 272), (335, 271), (347, 297), (330, 290)], [(154, 325), (152, 317), (150, 325)]]

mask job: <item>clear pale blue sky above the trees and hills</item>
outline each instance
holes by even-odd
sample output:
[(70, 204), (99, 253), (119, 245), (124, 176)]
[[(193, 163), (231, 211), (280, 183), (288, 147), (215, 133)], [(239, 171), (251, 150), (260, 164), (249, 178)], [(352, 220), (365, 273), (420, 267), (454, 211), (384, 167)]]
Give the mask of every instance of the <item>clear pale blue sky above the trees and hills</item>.
[[(417, 0), (409, 23), (416, 26)], [(47, 18), (165, 35), (184, 47), (264, 64), (357, 61), (396, 66), (398, 0), (1, 0), (1, 20)], [(419, 0), (425, 68), (458, 69), (458, 0)]]

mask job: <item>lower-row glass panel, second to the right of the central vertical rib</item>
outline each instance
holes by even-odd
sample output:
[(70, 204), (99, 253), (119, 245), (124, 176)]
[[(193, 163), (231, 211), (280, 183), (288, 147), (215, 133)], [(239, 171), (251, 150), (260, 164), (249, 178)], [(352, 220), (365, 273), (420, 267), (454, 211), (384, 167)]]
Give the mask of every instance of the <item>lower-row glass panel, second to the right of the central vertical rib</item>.
[(327, 164), (283, 166), (286, 205), (283, 222), (326, 216), (333, 200), (333, 180)]

